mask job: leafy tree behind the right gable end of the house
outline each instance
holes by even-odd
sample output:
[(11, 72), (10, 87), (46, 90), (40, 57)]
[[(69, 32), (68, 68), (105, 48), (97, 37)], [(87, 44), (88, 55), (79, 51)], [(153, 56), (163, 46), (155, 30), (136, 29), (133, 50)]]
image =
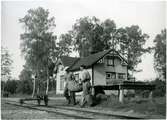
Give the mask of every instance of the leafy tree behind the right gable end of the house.
[(118, 29), (119, 36), (117, 36), (119, 49), (118, 51), (127, 59), (128, 70), (138, 72), (137, 65), (141, 62), (141, 56), (150, 52), (150, 47), (144, 48), (146, 40), (149, 36), (142, 33), (138, 25), (132, 25), (126, 28)]

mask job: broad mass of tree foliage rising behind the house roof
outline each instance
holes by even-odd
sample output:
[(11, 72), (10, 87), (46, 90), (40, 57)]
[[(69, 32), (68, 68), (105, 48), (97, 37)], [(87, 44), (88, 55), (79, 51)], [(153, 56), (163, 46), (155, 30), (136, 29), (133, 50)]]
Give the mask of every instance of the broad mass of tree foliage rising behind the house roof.
[(101, 22), (96, 17), (80, 18), (68, 34), (71, 34), (69, 41), (73, 43), (74, 50), (79, 52), (80, 57), (115, 49), (127, 59), (128, 70), (135, 72), (139, 71), (136, 67), (141, 62), (141, 56), (151, 49), (144, 48), (149, 36), (138, 25), (117, 28), (110, 19)]

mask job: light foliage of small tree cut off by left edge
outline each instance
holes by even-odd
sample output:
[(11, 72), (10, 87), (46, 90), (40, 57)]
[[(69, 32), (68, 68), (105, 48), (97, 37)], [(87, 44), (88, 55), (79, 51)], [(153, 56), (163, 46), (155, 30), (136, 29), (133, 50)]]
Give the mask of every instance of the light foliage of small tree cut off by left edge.
[(9, 80), (11, 77), (13, 60), (7, 48), (1, 46), (1, 77), (2, 80)]

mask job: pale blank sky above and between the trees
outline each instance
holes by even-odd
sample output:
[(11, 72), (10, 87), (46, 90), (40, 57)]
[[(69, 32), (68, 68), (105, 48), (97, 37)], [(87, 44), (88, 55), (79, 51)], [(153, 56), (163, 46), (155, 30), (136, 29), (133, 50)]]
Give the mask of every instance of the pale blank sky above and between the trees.
[[(84, 16), (95, 16), (101, 21), (114, 20), (117, 27), (139, 25), (143, 33), (150, 36), (145, 47), (153, 46), (157, 34), (165, 28), (165, 1), (128, 0), (43, 0), (43, 1), (1, 1), (1, 44), (12, 55), (12, 77), (18, 79), (25, 60), (21, 57), (20, 34), (24, 33), (19, 19), (31, 8), (48, 9), (55, 17), (55, 34), (66, 33), (75, 21)], [(76, 56), (72, 53), (72, 56)], [(153, 53), (142, 56), (138, 65), (142, 72), (135, 74), (137, 80), (151, 80), (156, 77), (153, 68)]]

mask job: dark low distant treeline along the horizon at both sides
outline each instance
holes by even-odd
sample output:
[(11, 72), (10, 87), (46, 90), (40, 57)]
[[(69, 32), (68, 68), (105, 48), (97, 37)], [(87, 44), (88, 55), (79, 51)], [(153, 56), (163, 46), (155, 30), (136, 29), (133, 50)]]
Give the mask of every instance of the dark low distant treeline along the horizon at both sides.
[[(156, 78), (148, 83), (155, 84), (155, 90), (153, 91), (153, 97), (162, 97), (166, 94), (166, 81), (162, 81)], [(49, 91), (56, 91), (56, 81), (50, 81)], [(10, 94), (32, 94), (33, 91), (33, 81), (32, 80), (8, 80), (7, 82), (1, 81), (1, 92)], [(137, 90), (136, 94), (147, 94), (149, 92), (144, 90)]]

